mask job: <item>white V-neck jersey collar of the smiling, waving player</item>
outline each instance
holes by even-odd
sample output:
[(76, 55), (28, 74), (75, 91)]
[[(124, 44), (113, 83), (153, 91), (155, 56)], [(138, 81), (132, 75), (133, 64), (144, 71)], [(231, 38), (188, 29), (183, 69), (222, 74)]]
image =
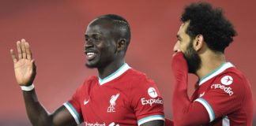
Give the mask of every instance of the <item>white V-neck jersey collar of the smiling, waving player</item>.
[(121, 76), (122, 73), (126, 72), (128, 69), (130, 69), (130, 66), (124, 63), (118, 70), (111, 73), (111, 75), (105, 77), (104, 79), (101, 79), (99, 76), (99, 83), (100, 85), (103, 85), (104, 83), (107, 83), (111, 80), (115, 80), (117, 77)]

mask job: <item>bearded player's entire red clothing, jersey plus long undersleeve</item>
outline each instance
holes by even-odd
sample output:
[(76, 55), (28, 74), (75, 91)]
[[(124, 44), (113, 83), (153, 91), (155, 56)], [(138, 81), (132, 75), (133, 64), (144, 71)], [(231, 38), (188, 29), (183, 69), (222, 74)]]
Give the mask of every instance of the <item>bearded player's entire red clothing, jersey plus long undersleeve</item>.
[(253, 98), (250, 83), (231, 63), (224, 63), (197, 83), (187, 96), (186, 60), (177, 53), (172, 60), (175, 88), (172, 101), (176, 125), (252, 125)]

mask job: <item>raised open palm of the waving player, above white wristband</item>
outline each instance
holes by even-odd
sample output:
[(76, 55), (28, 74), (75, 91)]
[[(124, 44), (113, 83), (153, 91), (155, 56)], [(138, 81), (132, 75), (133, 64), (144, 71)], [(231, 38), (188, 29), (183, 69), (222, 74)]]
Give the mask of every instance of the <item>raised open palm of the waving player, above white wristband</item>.
[(32, 59), (32, 53), (28, 42), (25, 39), (17, 41), (18, 58), (13, 49), (10, 54), (13, 57), (14, 72), (17, 83), (20, 86), (29, 86), (33, 83), (36, 77), (36, 65)]

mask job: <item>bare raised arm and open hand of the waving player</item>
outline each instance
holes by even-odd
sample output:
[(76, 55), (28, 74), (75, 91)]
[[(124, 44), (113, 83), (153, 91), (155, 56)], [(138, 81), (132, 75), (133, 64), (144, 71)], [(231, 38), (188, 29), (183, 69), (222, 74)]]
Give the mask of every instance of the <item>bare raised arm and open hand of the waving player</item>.
[[(13, 50), (14, 72), (19, 86), (31, 86), (36, 76), (36, 65), (28, 42), (24, 39), (17, 41), (18, 58)], [(66, 107), (61, 106), (55, 113), (48, 113), (38, 101), (35, 89), (23, 91), (28, 118), (32, 125), (77, 125)]]

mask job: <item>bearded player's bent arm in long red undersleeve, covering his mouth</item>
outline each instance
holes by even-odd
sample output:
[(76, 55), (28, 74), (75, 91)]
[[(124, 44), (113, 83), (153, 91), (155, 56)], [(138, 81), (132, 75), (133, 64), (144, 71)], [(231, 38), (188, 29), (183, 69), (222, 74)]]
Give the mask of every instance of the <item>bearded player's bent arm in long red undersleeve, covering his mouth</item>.
[(175, 125), (201, 125), (209, 123), (209, 115), (198, 102), (191, 102), (187, 95), (186, 60), (181, 52), (173, 57), (171, 67), (175, 76), (172, 112)]

